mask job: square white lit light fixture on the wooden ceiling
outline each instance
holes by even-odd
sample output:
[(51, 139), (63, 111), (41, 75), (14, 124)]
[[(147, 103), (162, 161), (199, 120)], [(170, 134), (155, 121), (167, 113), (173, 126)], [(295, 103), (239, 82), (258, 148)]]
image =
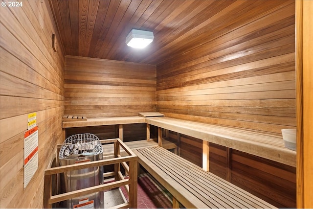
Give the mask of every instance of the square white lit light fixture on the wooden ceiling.
[(132, 29), (126, 36), (127, 46), (133, 48), (144, 48), (148, 46), (154, 39), (152, 31)]

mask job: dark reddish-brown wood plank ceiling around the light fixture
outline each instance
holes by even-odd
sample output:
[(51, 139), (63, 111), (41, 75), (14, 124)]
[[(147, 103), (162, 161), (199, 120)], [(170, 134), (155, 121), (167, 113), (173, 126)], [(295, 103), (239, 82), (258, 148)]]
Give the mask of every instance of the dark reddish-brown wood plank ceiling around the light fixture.
[[(158, 65), (282, 4), (281, 0), (50, 0), (67, 55)], [(150, 30), (144, 49), (131, 29)]]

